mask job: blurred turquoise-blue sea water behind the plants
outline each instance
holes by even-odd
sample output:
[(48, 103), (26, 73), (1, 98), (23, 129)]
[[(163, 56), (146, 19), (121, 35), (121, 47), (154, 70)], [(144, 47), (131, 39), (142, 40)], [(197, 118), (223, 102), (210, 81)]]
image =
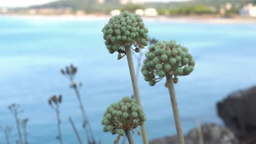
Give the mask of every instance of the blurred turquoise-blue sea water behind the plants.
[[(71, 116), (85, 141), (80, 111), (69, 81), (60, 69), (78, 66), (75, 81), (80, 90), (94, 134), (102, 143), (113, 143), (116, 136), (102, 132), (101, 118), (106, 107), (131, 95), (132, 86), (126, 58), (117, 61), (104, 46), (101, 29), (107, 20), (61, 20), (54, 18), (0, 17), (0, 125), (14, 127), (7, 107), (18, 103), (28, 117), (30, 143), (58, 143), (56, 117), (47, 103), (53, 94), (63, 95), (62, 135), (65, 143), (77, 143), (67, 117)], [(181, 77), (175, 86), (184, 133), (201, 123), (222, 124), (216, 102), (230, 92), (255, 85), (256, 25), (182, 23), (146, 20), (151, 37), (189, 47), (196, 60), (191, 75)], [(136, 61), (135, 61), (136, 65)], [(150, 87), (139, 75), (142, 105), (147, 115), (150, 140), (174, 135), (176, 129), (164, 81)], [(139, 130), (139, 129), (138, 129)], [(136, 143), (141, 137), (134, 136)], [(0, 133), (0, 143), (4, 143)]]

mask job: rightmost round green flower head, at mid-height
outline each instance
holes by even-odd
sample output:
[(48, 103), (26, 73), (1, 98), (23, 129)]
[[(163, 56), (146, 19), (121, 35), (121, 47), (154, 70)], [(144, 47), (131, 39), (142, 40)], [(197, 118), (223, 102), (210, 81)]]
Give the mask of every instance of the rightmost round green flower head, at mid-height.
[(141, 71), (149, 85), (154, 86), (167, 74), (174, 75), (173, 82), (177, 83), (177, 76), (189, 75), (194, 66), (193, 56), (186, 47), (177, 45), (175, 40), (158, 41), (149, 47)]

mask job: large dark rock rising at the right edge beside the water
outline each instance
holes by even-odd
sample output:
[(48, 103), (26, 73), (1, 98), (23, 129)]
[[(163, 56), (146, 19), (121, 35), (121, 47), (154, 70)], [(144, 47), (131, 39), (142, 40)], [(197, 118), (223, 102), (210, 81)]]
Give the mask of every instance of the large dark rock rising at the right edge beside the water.
[(256, 137), (256, 87), (232, 93), (217, 104), (218, 115), (240, 139)]

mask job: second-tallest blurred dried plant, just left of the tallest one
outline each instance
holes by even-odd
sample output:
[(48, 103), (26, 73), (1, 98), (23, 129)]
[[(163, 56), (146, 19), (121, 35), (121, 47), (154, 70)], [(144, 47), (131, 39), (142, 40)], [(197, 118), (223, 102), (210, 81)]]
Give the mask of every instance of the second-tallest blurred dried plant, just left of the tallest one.
[(51, 106), (51, 108), (56, 112), (56, 117), (57, 117), (57, 129), (59, 135), (56, 137), (56, 139), (60, 140), (60, 143), (62, 144), (62, 137), (61, 137), (61, 119), (60, 119), (60, 104), (62, 102), (62, 95), (59, 95), (57, 97), (56, 95), (53, 95), (50, 97), (48, 100), (48, 104)]

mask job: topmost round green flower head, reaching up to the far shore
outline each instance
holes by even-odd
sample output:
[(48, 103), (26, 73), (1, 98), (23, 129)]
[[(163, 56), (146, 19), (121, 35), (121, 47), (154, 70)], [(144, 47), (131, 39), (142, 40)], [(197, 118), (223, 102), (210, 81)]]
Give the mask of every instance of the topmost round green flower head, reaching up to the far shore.
[(123, 53), (124, 47), (132, 45), (136, 47), (133, 50), (139, 52), (139, 48), (143, 49), (148, 45), (148, 29), (144, 26), (141, 16), (127, 11), (111, 17), (102, 32), (109, 53)]

